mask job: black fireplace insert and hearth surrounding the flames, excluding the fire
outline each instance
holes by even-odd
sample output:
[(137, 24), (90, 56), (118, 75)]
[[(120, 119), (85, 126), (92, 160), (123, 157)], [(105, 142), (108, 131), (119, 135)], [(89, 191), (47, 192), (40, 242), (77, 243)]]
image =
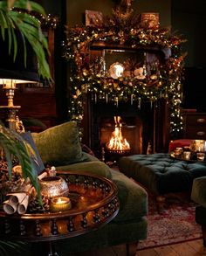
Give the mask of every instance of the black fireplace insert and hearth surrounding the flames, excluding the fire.
[[(121, 133), (130, 145), (129, 150), (109, 150), (106, 145), (115, 130), (115, 119), (121, 120)], [(148, 142), (154, 144), (154, 106), (144, 102), (141, 107), (130, 102), (120, 102), (118, 107), (113, 103), (88, 100), (86, 108), (87, 144), (96, 156), (107, 160), (111, 157), (146, 154)]]

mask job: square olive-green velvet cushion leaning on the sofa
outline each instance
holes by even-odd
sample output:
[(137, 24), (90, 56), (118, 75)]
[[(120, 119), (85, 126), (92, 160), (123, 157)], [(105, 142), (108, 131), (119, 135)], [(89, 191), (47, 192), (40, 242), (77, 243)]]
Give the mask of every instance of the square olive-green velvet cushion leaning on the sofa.
[(43, 163), (57, 166), (81, 161), (82, 150), (76, 121), (68, 121), (31, 135)]

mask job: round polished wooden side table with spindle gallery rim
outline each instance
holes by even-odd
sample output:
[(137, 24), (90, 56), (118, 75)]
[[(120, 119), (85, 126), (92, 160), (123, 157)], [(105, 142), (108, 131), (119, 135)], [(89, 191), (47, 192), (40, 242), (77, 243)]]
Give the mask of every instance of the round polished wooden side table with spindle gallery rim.
[(0, 211), (0, 239), (45, 242), (47, 255), (58, 256), (52, 241), (92, 232), (117, 215), (117, 187), (110, 180), (78, 172), (58, 171), (57, 175), (69, 185), (72, 209), (21, 216)]

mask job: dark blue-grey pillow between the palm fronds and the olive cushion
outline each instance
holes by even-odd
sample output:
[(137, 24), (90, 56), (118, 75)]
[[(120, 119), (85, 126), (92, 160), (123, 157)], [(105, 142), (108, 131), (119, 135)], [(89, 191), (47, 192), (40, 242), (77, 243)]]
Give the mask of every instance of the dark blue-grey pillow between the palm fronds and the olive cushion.
[(43, 170), (45, 170), (45, 166), (44, 166), (44, 163), (42, 162), (41, 157), (39, 156), (38, 149), (35, 146), (35, 143), (31, 137), (31, 132), (25, 132), (25, 133), (21, 134), (21, 136), (23, 137), (23, 139), (26, 142), (28, 142), (31, 145), (31, 148), (34, 150), (38, 162), (33, 160), (32, 163), (33, 163), (35, 169), (37, 170), (37, 173), (40, 174)]

